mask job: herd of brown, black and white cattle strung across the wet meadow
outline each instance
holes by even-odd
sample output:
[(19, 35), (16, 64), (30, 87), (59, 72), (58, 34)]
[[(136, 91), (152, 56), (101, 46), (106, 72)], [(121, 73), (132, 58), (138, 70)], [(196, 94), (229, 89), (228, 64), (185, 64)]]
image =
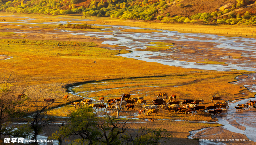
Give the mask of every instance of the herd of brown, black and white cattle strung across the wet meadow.
[[(19, 94), (18, 99), (20, 99), (22, 96), (26, 96), (26, 95)], [(168, 98), (169, 102), (166, 103), (166, 101), (164, 101), (164, 99), (160, 99), (160, 97), (163, 98), (163, 96), (166, 96), (166, 99)], [(68, 95), (65, 95), (63, 97), (63, 100), (65, 100), (65, 99), (68, 100), (68, 97), (69, 97)], [(117, 105), (121, 104), (121, 98), (122, 97), (107, 100), (106, 102), (107, 102), (108, 106), (104, 105), (105, 104), (104, 97), (99, 98), (99, 100), (96, 101), (96, 104), (92, 103), (91, 99), (82, 99), (81, 102), (73, 102), (70, 105), (74, 105), (74, 107), (76, 107), (76, 106), (80, 107), (80, 105), (89, 105), (92, 108), (95, 108), (95, 110), (98, 109), (98, 111), (99, 111), (99, 108), (100, 108), (102, 111), (102, 108), (104, 108), (104, 110), (106, 110), (106, 111), (108, 110), (110, 112), (113, 110), (115, 111), (115, 109), (116, 109), (115, 104), (117, 104)], [(125, 100), (125, 98), (127, 98), (127, 100)], [(146, 111), (147, 111), (147, 115), (151, 115), (152, 113), (155, 113), (155, 115), (158, 115), (159, 110), (162, 111), (162, 109), (163, 109), (165, 111), (169, 111), (169, 113), (171, 111), (173, 111), (173, 113), (174, 112), (182, 113), (182, 114), (185, 113), (185, 114), (191, 114), (191, 116), (193, 114), (194, 114), (194, 116), (197, 115), (197, 111), (200, 112), (200, 110), (202, 110), (202, 111), (207, 110), (209, 114), (213, 114), (213, 116), (214, 115), (217, 116), (217, 114), (220, 114), (220, 113), (222, 114), (223, 112), (226, 112), (226, 114), (228, 114), (227, 109), (229, 109), (228, 102), (220, 102), (220, 97), (212, 98), (211, 102), (213, 102), (213, 101), (216, 102), (216, 100), (218, 100), (218, 102), (216, 102), (213, 106), (202, 105), (202, 104), (204, 104), (203, 99), (202, 100), (184, 100), (180, 104), (179, 101), (176, 101), (176, 95), (171, 95), (168, 97), (167, 93), (160, 93), (157, 96), (157, 99), (151, 101), (152, 105), (147, 104), (147, 100), (144, 100), (144, 97), (136, 97), (136, 98), (132, 98), (131, 100), (128, 100), (129, 98), (131, 99), (130, 94), (124, 94), (121, 105), (124, 105), (127, 108), (127, 110), (129, 110), (129, 108), (131, 108), (131, 110), (135, 110), (135, 108), (134, 108), (135, 103), (136, 103), (135, 106), (137, 106), (138, 104), (141, 104), (143, 107), (143, 110), (140, 110), (138, 112), (138, 115), (141, 115), (142, 113), (144, 113), (144, 115), (145, 115)], [(51, 103), (51, 104), (55, 103), (55, 99), (44, 99), (43, 101), (45, 101), (46, 103)], [(183, 106), (180, 108), (179, 104), (183, 105)], [(241, 110), (243, 111), (243, 110), (246, 110), (246, 108), (249, 110), (249, 107), (254, 108), (256, 110), (256, 101), (250, 100), (246, 104), (237, 104), (237, 106), (235, 106), (234, 108), (237, 109), (236, 111), (241, 111)], [(221, 108), (223, 108), (223, 109), (221, 109)]]

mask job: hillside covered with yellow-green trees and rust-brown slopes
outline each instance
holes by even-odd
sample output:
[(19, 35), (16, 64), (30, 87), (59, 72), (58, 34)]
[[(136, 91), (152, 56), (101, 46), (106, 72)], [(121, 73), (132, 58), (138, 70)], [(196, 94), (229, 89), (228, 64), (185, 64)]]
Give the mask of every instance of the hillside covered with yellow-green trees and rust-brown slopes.
[(256, 0), (0, 0), (11, 13), (111, 17), (163, 23), (256, 24)]

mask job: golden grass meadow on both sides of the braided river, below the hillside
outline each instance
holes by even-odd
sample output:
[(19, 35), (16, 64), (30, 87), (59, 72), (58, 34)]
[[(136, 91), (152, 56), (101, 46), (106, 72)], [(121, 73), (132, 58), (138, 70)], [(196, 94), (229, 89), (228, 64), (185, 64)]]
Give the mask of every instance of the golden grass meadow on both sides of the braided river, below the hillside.
[[(13, 18), (10, 14), (5, 15), (6, 23), (0, 23), (0, 69), (6, 73), (13, 71), (18, 76), (20, 91), (25, 88), (24, 94), (31, 98), (41, 100), (54, 98), (49, 116), (56, 116), (56, 122), (66, 122), (67, 114), (77, 108), (70, 105), (72, 102), (80, 102), (83, 98), (98, 100), (100, 97), (106, 100), (121, 97), (124, 94), (131, 94), (133, 97), (144, 97), (147, 104), (152, 104), (159, 93), (168, 93), (168, 96), (175, 94), (176, 101), (180, 103), (186, 99), (204, 99), (205, 106), (214, 105), (211, 99), (220, 96), (222, 101), (233, 101), (244, 98), (253, 98), (255, 92), (249, 91), (243, 85), (231, 84), (236, 81), (236, 77), (243, 74), (251, 74), (253, 71), (231, 70), (215, 71), (201, 70), (193, 68), (182, 68), (168, 66), (156, 62), (140, 61), (138, 59), (126, 58), (120, 55), (128, 54), (132, 51), (127, 47), (118, 45), (102, 44), (109, 38), (98, 38), (93, 35), (77, 35), (76, 32), (109, 33), (112, 31), (96, 31), (94, 29), (68, 29), (59, 28), (58, 21), (72, 21), (73, 23), (101, 24), (103, 26), (93, 26), (97, 29), (108, 28), (111, 25), (153, 28), (153, 29), (177, 29), (179, 32), (199, 32), (205, 33), (223, 32), (220, 36), (248, 37), (255, 38), (254, 27), (237, 26), (207, 26), (192, 24), (155, 24), (147, 22), (123, 22), (110, 18), (90, 18), (95, 21), (76, 21), (80, 16), (42, 16), (15, 14), (20, 18)], [(12, 14), (13, 15), (13, 14)], [(9, 17), (10, 16), (10, 17)], [(17, 20), (25, 20), (23, 17), (33, 17), (20, 23)], [(59, 16), (60, 17), (60, 16)], [(65, 17), (65, 19), (64, 19)], [(1, 19), (2, 19), (1, 18)], [(12, 23), (7, 23), (12, 22)], [(19, 23), (16, 23), (19, 22)], [(31, 23), (33, 22), (33, 23)], [(55, 25), (48, 25), (44, 22), (56, 22)], [(42, 24), (38, 24), (42, 23)], [(108, 26), (106, 26), (108, 25)], [(239, 29), (238, 29), (239, 28)], [(58, 30), (56, 30), (58, 29)], [(126, 33), (151, 33), (157, 30), (145, 29), (122, 29)], [(184, 29), (184, 31), (182, 31)], [(218, 29), (218, 30), (216, 30)], [(186, 31), (187, 30), (187, 31)], [(228, 33), (228, 34), (224, 34)], [(237, 34), (241, 33), (241, 35)], [(204, 33), (204, 32), (203, 32)], [(246, 35), (244, 35), (246, 33)], [(251, 36), (253, 33), (253, 36)], [(172, 47), (172, 42), (154, 43), (156, 46), (147, 47), (143, 51), (164, 51)], [(160, 45), (160, 46), (159, 46)], [(175, 44), (174, 44), (175, 45)], [(186, 45), (186, 44), (183, 44)], [(189, 49), (189, 48), (188, 48)], [(119, 53), (120, 51), (120, 54)], [(189, 52), (188, 52), (189, 53)], [(159, 54), (160, 55), (160, 54)], [(5, 59), (6, 56), (12, 58)], [(234, 57), (239, 57), (235, 55)], [(177, 57), (176, 57), (177, 58)], [(214, 64), (214, 62), (212, 62)], [(72, 88), (72, 93), (70, 92)], [(16, 92), (18, 95), (22, 92)], [(68, 101), (63, 100), (64, 95), (69, 95)], [(165, 97), (163, 98), (165, 99)], [(167, 102), (168, 99), (165, 99)], [(179, 103), (179, 104), (180, 104)], [(188, 131), (206, 127), (218, 127), (216, 117), (212, 117), (207, 112), (200, 111), (198, 116), (173, 113), (162, 110), (158, 116), (140, 115), (137, 113), (143, 109), (142, 105), (135, 106), (135, 110), (128, 111), (124, 108), (120, 116), (131, 119), (131, 130), (138, 128), (138, 125), (146, 125), (150, 128), (167, 129), (173, 137), (167, 140), (166, 144), (198, 144), (198, 140), (188, 139)], [(232, 108), (230, 108), (232, 109)], [(30, 110), (33, 113), (33, 110)], [(109, 113), (109, 111), (107, 111)], [(100, 115), (105, 112), (98, 113)], [(110, 113), (116, 116), (116, 112)], [(223, 114), (224, 116), (224, 114)], [(99, 117), (100, 118), (100, 117)], [(153, 120), (144, 123), (147, 119)], [(198, 122), (197, 122), (198, 121)], [(58, 125), (50, 125), (44, 128), (46, 136), (51, 136), (52, 132), (58, 130)], [(242, 134), (232, 133), (237, 136)], [(237, 142), (239, 144), (241, 142)], [(246, 142), (245, 144), (253, 144)]]

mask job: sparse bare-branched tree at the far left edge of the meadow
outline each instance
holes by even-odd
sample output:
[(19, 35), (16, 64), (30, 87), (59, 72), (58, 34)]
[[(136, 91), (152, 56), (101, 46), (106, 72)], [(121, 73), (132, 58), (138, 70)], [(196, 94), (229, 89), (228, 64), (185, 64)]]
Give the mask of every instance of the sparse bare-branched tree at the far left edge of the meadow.
[[(13, 135), (12, 131), (8, 131), (7, 126), (10, 118), (21, 117), (22, 113), (27, 112), (30, 102), (27, 100), (29, 96), (18, 99), (17, 76), (14, 71), (9, 73), (0, 70), (0, 137), (1, 135)], [(24, 90), (22, 91), (24, 92)]]

